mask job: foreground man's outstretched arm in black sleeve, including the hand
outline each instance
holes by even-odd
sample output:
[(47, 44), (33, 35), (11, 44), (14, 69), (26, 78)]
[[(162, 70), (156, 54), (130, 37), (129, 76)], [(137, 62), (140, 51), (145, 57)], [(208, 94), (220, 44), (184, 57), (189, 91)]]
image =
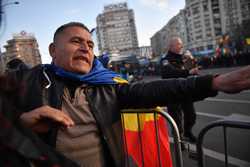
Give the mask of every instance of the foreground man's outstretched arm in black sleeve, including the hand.
[(237, 93), (250, 89), (250, 66), (218, 76), (155, 80), (123, 85), (119, 89), (122, 108), (153, 107), (216, 96), (218, 91)]

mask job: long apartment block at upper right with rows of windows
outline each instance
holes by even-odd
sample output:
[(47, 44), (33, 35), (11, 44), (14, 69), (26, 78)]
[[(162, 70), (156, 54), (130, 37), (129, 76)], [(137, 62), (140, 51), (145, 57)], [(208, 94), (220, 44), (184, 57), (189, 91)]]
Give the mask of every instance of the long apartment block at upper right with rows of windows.
[(213, 55), (223, 35), (250, 31), (238, 28), (243, 24), (250, 24), (249, 0), (186, 0), (185, 8), (151, 38), (153, 54), (161, 55), (165, 51), (161, 43), (179, 36), (185, 49)]

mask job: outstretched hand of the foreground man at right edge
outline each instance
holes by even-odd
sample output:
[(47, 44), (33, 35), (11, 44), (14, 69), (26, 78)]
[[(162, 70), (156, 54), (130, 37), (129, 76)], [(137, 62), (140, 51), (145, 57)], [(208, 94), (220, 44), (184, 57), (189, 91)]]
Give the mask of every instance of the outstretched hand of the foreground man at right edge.
[(225, 93), (238, 93), (250, 89), (250, 66), (215, 77), (212, 87)]

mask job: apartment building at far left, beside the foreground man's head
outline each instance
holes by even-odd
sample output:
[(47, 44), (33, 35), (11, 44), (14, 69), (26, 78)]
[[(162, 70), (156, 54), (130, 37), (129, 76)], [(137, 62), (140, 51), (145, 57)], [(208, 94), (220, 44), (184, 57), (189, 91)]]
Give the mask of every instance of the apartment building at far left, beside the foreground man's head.
[(13, 39), (8, 40), (4, 48), (6, 49), (3, 53), (5, 64), (15, 58), (21, 59), (31, 67), (42, 62), (36, 38), (25, 31), (14, 34)]

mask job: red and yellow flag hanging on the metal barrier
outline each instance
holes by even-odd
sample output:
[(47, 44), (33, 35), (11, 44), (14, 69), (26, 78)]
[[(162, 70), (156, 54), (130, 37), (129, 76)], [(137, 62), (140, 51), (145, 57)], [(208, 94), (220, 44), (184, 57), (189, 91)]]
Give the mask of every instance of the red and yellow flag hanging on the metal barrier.
[(154, 113), (123, 113), (124, 145), (138, 167), (172, 167), (167, 124)]

